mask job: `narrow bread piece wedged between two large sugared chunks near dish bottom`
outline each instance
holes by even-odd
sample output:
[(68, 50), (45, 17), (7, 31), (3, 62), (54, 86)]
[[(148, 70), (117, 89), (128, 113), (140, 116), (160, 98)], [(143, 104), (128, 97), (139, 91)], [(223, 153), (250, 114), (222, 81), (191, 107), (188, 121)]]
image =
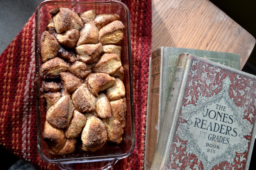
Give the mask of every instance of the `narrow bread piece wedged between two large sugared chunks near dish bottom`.
[(79, 137), (85, 123), (86, 123), (86, 117), (82, 113), (78, 112), (77, 110), (74, 110), (73, 117), (69, 122), (69, 126), (65, 130), (66, 137), (68, 138)]

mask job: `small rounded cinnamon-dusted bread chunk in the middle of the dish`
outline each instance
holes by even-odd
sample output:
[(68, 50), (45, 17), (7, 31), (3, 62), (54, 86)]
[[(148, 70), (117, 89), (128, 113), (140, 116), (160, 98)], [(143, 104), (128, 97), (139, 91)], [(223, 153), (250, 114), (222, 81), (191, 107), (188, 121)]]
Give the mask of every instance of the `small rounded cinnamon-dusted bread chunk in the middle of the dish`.
[(69, 71), (76, 77), (85, 79), (90, 73), (92, 73), (92, 68), (90, 65), (78, 61), (70, 67)]

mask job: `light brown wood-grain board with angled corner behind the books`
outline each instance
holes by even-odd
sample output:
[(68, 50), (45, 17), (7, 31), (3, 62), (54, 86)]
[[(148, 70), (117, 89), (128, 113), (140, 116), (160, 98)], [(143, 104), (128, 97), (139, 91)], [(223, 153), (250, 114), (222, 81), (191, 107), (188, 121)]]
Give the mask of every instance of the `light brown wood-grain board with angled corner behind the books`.
[(255, 38), (209, 0), (152, 0), (152, 50), (160, 46), (237, 53), (244, 67)]

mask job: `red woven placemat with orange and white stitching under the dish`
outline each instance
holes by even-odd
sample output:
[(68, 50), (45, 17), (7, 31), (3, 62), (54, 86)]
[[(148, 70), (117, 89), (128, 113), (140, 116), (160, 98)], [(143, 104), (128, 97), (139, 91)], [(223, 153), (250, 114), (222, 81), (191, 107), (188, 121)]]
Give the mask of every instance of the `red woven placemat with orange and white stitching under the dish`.
[[(124, 1), (131, 14), (136, 144), (113, 169), (142, 169), (151, 52), (151, 1)], [(34, 15), (0, 56), (0, 144), (38, 169), (59, 169), (37, 152)]]

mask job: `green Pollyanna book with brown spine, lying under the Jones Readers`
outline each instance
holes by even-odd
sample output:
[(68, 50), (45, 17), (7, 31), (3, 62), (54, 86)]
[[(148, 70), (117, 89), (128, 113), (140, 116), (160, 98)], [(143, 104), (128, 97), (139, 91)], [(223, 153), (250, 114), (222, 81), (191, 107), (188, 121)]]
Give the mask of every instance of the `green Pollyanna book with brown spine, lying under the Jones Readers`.
[(164, 111), (180, 53), (190, 53), (240, 70), (240, 55), (188, 48), (159, 47), (152, 51), (149, 65), (148, 105), (144, 168), (150, 169)]

